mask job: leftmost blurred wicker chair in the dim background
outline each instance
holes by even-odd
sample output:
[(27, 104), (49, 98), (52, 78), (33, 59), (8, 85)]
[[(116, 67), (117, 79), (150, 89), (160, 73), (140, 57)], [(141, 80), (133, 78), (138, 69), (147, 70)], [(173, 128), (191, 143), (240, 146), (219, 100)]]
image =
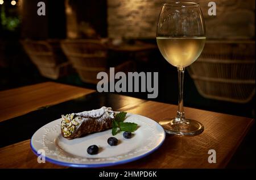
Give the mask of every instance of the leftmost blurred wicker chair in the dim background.
[(71, 71), (58, 40), (22, 40), (24, 50), (44, 77), (57, 79)]

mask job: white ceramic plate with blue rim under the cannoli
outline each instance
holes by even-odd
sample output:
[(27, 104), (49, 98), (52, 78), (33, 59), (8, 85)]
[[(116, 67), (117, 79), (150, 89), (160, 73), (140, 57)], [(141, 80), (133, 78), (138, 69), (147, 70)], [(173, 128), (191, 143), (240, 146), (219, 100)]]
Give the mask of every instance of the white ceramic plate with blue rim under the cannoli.
[[(43, 149), (46, 161), (63, 166), (96, 168), (135, 161), (158, 149), (166, 137), (164, 129), (154, 120), (129, 113), (125, 122), (137, 123), (139, 128), (131, 139), (125, 139), (122, 132), (115, 135), (119, 141), (117, 146), (110, 146), (107, 142), (112, 137), (111, 129), (67, 140), (61, 136), (60, 122), (61, 119), (57, 119), (38, 129), (30, 145), (36, 155), (40, 155), (42, 152), (38, 154), (38, 150)], [(100, 147), (96, 155), (86, 151), (93, 144)]]

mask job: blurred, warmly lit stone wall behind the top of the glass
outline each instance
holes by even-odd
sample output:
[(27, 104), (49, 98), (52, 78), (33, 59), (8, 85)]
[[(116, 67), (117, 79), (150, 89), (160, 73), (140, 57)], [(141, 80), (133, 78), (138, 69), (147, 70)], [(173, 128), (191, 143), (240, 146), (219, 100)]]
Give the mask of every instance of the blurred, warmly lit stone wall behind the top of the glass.
[[(213, 1), (213, 0), (212, 0)], [(108, 0), (109, 37), (155, 37), (156, 22), (164, 0)], [(210, 39), (253, 39), (255, 0), (215, 0), (217, 16), (208, 15), (209, 0), (196, 0), (202, 8)]]

